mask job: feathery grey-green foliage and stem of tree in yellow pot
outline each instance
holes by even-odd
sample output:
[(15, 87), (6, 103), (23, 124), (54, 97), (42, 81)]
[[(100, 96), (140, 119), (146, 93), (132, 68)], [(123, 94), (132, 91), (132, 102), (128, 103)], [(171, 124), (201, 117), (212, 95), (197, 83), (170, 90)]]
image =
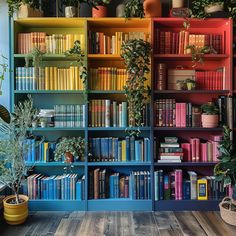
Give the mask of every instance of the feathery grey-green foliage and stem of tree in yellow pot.
[(20, 202), (19, 190), (29, 170), (25, 154), (31, 147), (25, 145), (25, 139), (34, 114), (33, 100), (28, 95), (27, 100), (15, 106), (9, 124), (0, 119), (0, 183), (14, 192), (16, 204)]

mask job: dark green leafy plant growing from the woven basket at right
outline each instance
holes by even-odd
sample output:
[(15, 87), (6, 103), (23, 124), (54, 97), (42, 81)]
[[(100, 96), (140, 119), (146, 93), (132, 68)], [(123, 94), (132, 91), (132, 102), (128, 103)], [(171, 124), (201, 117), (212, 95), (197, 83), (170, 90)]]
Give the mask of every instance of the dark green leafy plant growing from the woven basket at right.
[[(236, 150), (233, 148), (231, 140), (232, 130), (228, 126), (223, 126), (224, 137), (220, 142), (218, 157), (219, 163), (214, 167), (214, 175), (217, 181), (223, 181), (224, 187), (233, 187), (233, 198), (236, 200)], [(235, 209), (236, 211), (236, 206)]]

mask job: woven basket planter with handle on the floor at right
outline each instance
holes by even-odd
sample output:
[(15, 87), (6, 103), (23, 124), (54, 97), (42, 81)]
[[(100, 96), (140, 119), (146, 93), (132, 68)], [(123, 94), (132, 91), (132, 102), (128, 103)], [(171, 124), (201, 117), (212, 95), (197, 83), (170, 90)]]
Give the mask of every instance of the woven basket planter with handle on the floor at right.
[(226, 223), (236, 226), (236, 211), (231, 210), (232, 205), (234, 205), (236, 209), (236, 204), (232, 198), (225, 197), (219, 204), (220, 215)]

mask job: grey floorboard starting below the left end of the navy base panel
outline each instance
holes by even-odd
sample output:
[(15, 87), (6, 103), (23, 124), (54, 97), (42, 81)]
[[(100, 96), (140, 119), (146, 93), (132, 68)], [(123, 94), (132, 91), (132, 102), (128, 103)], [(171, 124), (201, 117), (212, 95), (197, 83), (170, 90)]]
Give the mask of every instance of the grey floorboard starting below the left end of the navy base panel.
[(161, 236), (183, 236), (173, 212), (154, 212), (153, 216)]

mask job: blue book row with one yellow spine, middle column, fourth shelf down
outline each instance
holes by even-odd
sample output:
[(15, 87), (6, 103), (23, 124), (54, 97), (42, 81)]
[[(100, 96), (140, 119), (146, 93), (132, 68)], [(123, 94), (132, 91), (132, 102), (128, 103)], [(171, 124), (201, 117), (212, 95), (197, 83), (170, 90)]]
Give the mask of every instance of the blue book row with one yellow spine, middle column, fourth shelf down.
[(89, 161), (151, 161), (149, 138), (90, 138), (89, 152)]

